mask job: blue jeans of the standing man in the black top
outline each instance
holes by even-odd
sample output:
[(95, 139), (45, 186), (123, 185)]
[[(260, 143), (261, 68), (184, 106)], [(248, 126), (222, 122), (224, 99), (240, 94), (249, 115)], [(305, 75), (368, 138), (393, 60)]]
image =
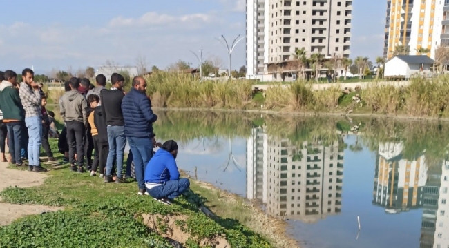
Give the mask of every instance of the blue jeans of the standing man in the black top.
[(106, 160), (106, 176), (111, 176), (114, 160), (117, 159), (117, 177), (122, 177), (123, 154), (126, 146), (124, 126), (108, 126), (109, 154)]

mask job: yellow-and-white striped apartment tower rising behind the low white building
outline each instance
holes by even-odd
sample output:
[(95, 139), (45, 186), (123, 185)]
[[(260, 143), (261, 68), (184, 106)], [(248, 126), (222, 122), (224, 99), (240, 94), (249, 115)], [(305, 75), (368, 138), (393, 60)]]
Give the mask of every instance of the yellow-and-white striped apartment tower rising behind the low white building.
[(390, 59), (397, 45), (405, 45), (410, 55), (428, 48), (434, 59), (435, 48), (449, 45), (449, 0), (388, 0), (383, 56)]

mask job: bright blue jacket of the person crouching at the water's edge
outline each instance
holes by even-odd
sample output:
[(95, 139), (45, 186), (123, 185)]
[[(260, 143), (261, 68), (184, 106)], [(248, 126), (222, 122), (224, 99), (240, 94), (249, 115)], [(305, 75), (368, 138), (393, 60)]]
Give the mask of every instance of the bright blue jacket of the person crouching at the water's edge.
[(179, 178), (180, 172), (173, 155), (164, 149), (158, 149), (146, 165), (145, 183), (165, 183)]

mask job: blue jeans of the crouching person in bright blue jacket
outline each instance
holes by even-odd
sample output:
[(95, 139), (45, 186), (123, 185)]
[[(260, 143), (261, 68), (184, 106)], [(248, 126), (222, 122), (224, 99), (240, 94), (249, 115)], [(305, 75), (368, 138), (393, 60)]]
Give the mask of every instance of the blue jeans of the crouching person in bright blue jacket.
[(173, 200), (174, 198), (180, 196), (190, 187), (190, 181), (187, 178), (180, 178), (178, 180), (169, 180), (160, 186), (153, 187), (147, 190), (150, 196), (156, 199), (169, 198)]

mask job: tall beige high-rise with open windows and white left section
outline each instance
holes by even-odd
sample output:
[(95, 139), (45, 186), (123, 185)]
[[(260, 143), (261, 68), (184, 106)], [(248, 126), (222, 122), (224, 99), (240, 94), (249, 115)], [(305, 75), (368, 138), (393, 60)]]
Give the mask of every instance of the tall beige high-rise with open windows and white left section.
[(247, 0), (247, 76), (263, 79), (269, 63), (307, 55), (350, 55), (352, 0)]

